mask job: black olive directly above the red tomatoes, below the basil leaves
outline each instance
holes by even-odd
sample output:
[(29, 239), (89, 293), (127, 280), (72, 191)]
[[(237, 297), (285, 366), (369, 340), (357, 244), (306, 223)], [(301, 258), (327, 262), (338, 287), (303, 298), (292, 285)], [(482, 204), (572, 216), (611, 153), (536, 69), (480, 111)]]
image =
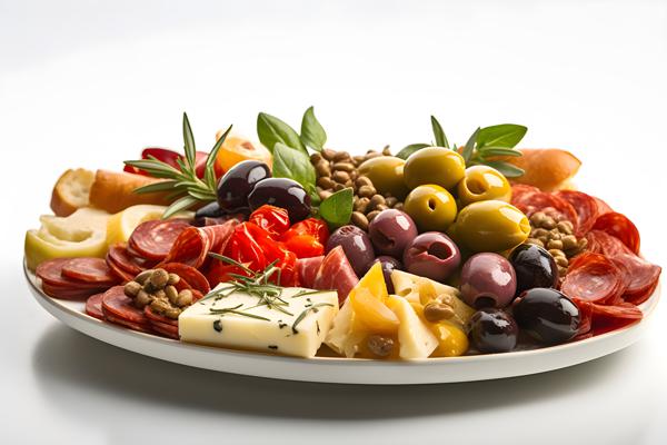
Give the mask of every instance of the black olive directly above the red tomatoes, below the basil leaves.
[(299, 182), (288, 178), (260, 180), (248, 196), (248, 204), (252, 211), (265, 204), (282, 207), (292, 224), (310, 216), (310, 196)]

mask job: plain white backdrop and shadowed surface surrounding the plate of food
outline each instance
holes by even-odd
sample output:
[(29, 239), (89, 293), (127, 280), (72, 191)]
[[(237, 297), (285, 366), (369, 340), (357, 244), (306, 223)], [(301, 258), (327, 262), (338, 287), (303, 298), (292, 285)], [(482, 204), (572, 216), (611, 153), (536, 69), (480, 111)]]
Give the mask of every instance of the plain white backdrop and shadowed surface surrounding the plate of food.
[[(579, 187), (665, 254), (667, 2), (0, 0), (2, 443), (658, 444), (667, 438), (660, 307), (637, 345), (574, 368), (421, 387), (299, 384), (128, 353), (51, 318), (23, 284), (23, 233), (70, 167), (147, 145), (199, 147), (258, 111), (310, 105), (350, 150), (477, 126), (573, 150)], [(660, 249), (661, 248), (661, 249)], [(665, 305), (663, 305), (665, 306)], [(426, 441), (429, 442), (426, 442)]]

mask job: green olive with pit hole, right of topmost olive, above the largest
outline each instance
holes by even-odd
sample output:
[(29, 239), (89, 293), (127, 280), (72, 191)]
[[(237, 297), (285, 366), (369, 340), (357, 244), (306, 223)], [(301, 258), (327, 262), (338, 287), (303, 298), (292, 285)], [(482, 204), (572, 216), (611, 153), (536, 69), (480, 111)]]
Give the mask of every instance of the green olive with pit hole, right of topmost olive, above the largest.
[(511, 198), (511, 187), (507, 178), (488, 166), (468, 167), (466, 176), (457, 186), (457, 192), (462, 206), (489, 199), (509, 202)]

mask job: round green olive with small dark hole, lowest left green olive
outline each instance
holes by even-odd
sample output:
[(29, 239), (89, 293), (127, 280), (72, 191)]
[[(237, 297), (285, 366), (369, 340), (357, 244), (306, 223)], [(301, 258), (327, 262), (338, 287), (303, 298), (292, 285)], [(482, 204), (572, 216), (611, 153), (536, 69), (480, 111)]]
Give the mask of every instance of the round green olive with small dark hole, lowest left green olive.
[(442, 187), (428, 184), (410, 191), (404, 211), (415, 220), (419, 231), (444, 231), (456, 218), (456, 200)]

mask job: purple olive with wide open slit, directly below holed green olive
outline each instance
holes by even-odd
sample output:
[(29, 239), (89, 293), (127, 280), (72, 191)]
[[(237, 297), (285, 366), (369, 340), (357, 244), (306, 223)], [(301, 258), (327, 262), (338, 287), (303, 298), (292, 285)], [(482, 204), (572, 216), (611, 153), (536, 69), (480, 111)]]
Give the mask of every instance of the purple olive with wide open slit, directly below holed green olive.
[(427, 231), (408, 245), (404, 266), (410, 274), (444, 281), (461, 263), (461, 253), (447, 235)]

